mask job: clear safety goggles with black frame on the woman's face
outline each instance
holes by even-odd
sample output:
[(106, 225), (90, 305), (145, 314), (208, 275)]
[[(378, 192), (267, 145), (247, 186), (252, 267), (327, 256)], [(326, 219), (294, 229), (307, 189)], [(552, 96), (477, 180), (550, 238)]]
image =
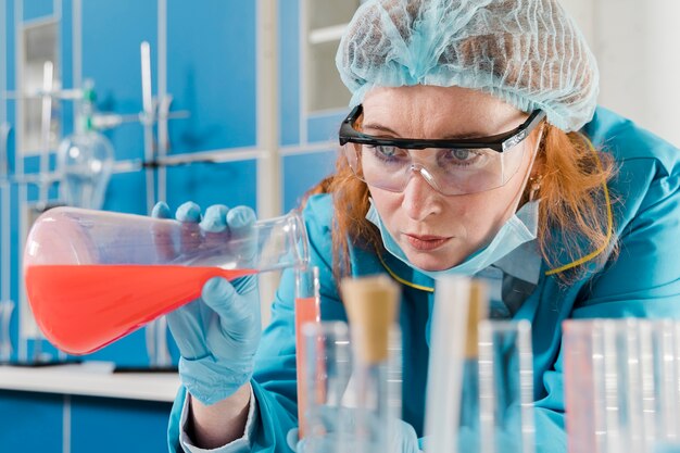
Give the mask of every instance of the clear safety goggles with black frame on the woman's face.
[(536, 110), (520, 126), (490, 137), (426, 140), (363, 134), (362, 105), (340, 126), (340, 146), (354, 174), (369, 186), (401, 192), (414, 174), (445, 196), (483, 192), (504, 186), (521, 165), (518, 147), (545, 117)]

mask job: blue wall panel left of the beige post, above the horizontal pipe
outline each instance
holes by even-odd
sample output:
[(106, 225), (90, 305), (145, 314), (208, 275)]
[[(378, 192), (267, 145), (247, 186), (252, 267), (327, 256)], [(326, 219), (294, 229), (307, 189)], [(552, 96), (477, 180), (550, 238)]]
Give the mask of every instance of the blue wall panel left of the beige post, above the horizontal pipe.
[(168, 1), (167, 89), (191, 112), (171, 126), (173, 153), (255, 146), (254, 4)]

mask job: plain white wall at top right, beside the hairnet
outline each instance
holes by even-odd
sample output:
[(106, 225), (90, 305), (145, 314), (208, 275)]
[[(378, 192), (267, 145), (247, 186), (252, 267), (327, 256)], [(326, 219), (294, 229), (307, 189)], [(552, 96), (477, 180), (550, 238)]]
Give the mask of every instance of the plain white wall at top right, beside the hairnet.
[(680, 1), (562, 0), (600, 65), (600, 103), (680, 147)]

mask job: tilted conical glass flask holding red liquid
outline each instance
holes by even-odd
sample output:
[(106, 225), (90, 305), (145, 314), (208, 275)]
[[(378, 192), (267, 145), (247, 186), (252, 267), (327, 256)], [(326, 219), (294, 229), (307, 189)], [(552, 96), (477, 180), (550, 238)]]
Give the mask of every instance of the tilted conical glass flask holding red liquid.
[(197, 299), (212, 277), (302, 266), (307, 255), (304, 224), (294, 212), (231, 234), (56, 207), (30, 229), (24, 279), (45, 336), (64, 352), (85, 354)]

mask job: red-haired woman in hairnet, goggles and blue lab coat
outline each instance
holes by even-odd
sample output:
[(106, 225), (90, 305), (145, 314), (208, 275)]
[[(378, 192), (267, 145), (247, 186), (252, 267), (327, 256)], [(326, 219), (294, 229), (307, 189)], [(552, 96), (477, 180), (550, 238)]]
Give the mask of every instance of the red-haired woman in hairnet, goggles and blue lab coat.
[[(372, 0), (337, 63), (354, 110), (336, 174), (303, 211), (323, 318), (345, 319), (343, 275), (400, 282), (401, 441), (414, 451), (435, 281), (487, 278), (491, 315), (533, 325), (538, 451), (566, 451), (561, 323), (680, 311), (680, 153), (596, 109), (595, 62), (556, 0)], [(201, 213), (188, 203), (176, 216)], [(213, 206), (201, 226), (253, 218)], [(294, 444), (292, 280), (285, 273), (261, 342), (248, 282), (210, 280), (201, 301), (169, 315), (184, 383), (171, 450)]]

